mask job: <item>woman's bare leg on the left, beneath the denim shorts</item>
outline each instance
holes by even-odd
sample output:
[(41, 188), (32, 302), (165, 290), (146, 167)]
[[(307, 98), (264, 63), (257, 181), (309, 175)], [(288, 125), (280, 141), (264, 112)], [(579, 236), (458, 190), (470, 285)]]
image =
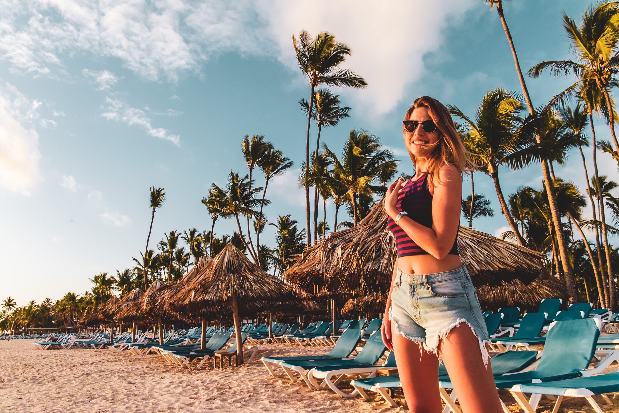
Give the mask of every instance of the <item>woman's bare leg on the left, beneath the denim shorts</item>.
[[(392, 325), (391, 331), (396, 331)], [(397, 372), (404, 397), (411, 413), (440, 413), (441, 395), (438, 392), (438, 359), (422, 349), (419, 343), (400, 334), (393, 334)]]

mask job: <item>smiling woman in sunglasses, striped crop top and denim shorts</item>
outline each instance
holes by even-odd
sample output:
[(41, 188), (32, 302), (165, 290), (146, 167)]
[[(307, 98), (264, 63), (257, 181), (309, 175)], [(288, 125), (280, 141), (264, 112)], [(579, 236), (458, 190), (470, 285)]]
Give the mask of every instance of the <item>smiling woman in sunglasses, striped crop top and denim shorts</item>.
[(415, 176), (387, 190), (397, 259), (383, 318), (411, 412), (439, 413), (438, 364), (465, 413), (503, 411), (477, 293), (458, 255), (462, 173), (472, 166), (449, 111), (428, 96), (406, 113), (404, 143)]

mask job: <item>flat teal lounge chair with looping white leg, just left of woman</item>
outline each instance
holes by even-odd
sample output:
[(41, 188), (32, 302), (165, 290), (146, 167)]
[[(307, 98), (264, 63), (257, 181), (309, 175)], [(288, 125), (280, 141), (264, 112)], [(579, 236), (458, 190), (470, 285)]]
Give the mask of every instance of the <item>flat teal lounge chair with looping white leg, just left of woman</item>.
[[(355, 366), (346, 366), (342, 367), (339, 365), (335, 366), (320, 366), (314, 367), (311, 372), (309, 372), (309, 381), (311, 383), (315, 383), (318, 385), (318, 388), (321, 389), (332, 389), (335, 393), (339, 394), (343, 398), (353, 398), (359, 394), (357, 389), (354, 389), (350, 393), (345, 393), (344, 391), (337, 388), (337, 385), (344, 378), (351, 376), (359, 376), (366, 375), (366, 377), (374, 377), (376, 376), (376, 372), (379, 369), (397, 369), (396, 366), (396, 354), (394, 352), (390, 352), (389, 356), (387, 356), (386, 362), (384, 364), (371, 364), (371, 365), (355, 365)], [(335, 378), (335, 381), (333, 380)], [(322, 380), (321, 383), (318, 380)], [(318, 384), (319, 383), (319, 384)]]

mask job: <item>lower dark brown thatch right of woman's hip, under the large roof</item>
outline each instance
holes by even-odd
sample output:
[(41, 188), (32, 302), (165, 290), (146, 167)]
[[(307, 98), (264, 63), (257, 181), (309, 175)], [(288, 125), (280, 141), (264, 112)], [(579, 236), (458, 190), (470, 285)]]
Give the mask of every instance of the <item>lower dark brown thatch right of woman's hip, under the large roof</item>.
[(500, 285), (482, 285), (477, 287), (477, 295), (484, 310), (520, 307), (528, 311), (537, 311), (543, 298), (563, 298), (565, 302), (568, 296), (565, 284), (548, 275), (539, 276), (529, 284), (514, 279)]

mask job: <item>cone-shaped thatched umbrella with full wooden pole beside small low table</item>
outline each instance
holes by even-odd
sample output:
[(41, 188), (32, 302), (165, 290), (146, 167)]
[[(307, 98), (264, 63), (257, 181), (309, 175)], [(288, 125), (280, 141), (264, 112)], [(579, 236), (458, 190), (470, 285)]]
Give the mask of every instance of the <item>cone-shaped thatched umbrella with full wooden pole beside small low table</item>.
[(186, 306), (204, 307), (220, 303), (232, 304), (236, 336), (236, 358), (243, 363), (243, 343), (239, 301), (256, 302), (284, 297), (290, 289), (284, 282), (263, 271), (245, 254), (228, 244), (215, 256), (204, 276), (186, 285), (176, 300)]

